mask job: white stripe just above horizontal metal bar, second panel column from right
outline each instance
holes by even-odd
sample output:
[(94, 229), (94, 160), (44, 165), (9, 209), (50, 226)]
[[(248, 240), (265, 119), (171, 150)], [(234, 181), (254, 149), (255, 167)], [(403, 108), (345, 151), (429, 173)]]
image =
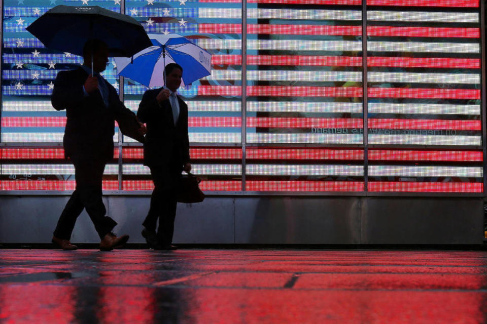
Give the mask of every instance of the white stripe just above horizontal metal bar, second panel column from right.
[(249, 143), (362, 144), (360, 134), (265, 134), (247, 133)]

